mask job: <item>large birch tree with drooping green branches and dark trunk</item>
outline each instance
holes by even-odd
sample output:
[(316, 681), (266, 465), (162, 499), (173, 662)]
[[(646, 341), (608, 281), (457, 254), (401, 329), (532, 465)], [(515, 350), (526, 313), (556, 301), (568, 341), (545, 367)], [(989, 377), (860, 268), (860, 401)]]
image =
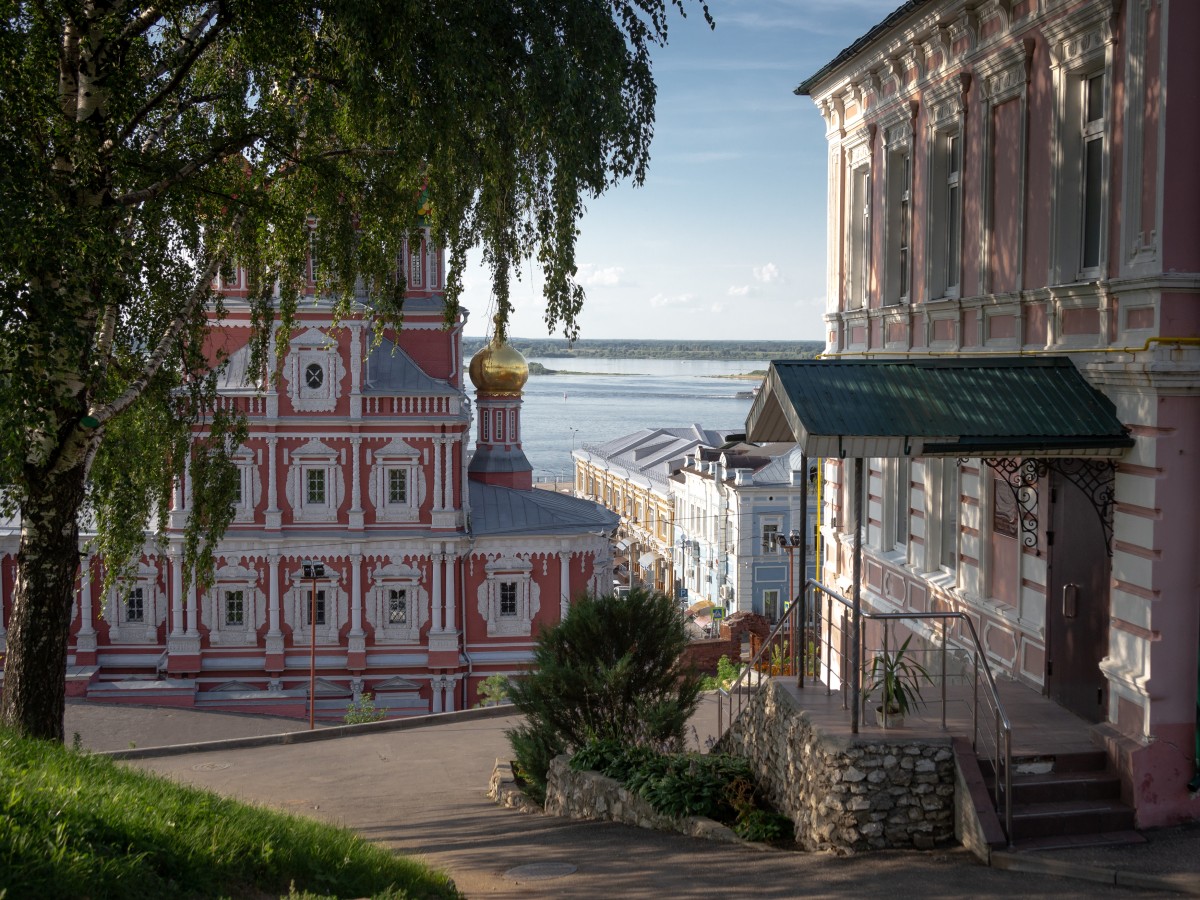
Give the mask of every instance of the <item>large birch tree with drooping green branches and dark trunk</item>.
[(644, 179), (650, 52), (692, 2), (0, 0), (0, 512), (20, 521), (4, 724), (62, 738), (82, 517), (120, 571), (191, 460), (185, 570), (211, 570), (244, 428), (212, 412), (214, 280), (246, 269), (259, 368), (310, 241), (335, 314), (358, 286), (398, 326), (424, 215), (448, 323), (478, 246), (502, 329), (533, 259), (547, 329), (576, 336), (583, 204)]

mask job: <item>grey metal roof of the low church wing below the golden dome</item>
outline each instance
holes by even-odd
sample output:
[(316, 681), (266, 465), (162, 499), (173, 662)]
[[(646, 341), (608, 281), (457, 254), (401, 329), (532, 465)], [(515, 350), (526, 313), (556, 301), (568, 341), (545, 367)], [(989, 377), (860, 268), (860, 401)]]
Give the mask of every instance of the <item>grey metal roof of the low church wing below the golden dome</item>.
[(554, 491), (518, 491), (468, 481), (470, 529), (478, 535), (610, 533), (620, 521), (592, 500)]

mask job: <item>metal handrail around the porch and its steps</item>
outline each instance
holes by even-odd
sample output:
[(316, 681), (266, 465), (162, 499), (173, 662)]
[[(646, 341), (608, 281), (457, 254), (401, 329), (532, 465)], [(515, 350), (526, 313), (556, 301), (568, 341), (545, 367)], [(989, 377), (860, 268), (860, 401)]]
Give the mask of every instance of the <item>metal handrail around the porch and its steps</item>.
[[(808, 594), (810, 590), (820, 592), (828, 598), (828, 602), (822, 610), (820, 605), (814, 605), (811, 611), (815, 619), (810, 623), (809, 610), (810, 606), (806, 602)], [(779, 620), (774, 629), (772, 629), (767, 640), (763, 641), (762, 647), (758, 653), (751, 659), (750, 665), (746, 666), (739, 674), (738, 678), (728, 686), (728, 689), (720, 688), (718, 696), (718, 713), (716, 713), (716, 733), (720, 737), (725, 736), (725, 709), (728, 708), (730, 714), (730, 726), (742, 714), (742, 709), (746, 706), (748, 701), (748, 689), (750, 688), (750, 678), (752, 673), (758, 672), (762, 658), (770, 653), (775, 647), (775, 641), (781, 634), (791, 632), (792, 635), (799, 635), (800, 640), (794, 638), (791, 642), (790, 654), (793, 661), (793, 672), (798, 673), (799, 686), (804, 686), (804, 676), (808, 671), (808, 626), (810, 624), (817, 625), (818, 629), (818, 642), (820, 649), (824, 649), (821, 653), (818, 649), (817, 666), (816, 671), (820, 672), (822, 662), (824, 664), (824, 684), (826, 691), (832, 692), (833, 683), (833, 604), (834, 601), (841, 604), (846, 611), (852, 612), (853, 605), (845, 596), (839, 594), (836, 590), (822, 584), (815, 578), (808, 578), (804, 583), (797, 601), (791, 604), (785, 613), (785, 616)], [(822, 614), (824, 613), (824, 614)], [(995, 767), (995, 787), (994, 787), (994, 802), (996, 809), (1003, 811), (1004, 822), (1004, 834), (1012, 840), (1013, 835), (1013, 726), (1004, 712), (1004, 707), (1000, 700), (1000, 691), (996, 686), (996, 679), (991, 672), (991, 666), (988, 664), (986, 654), (983, 650), (983, 644), (979, 641), (979, 635), (976, 631), (974, 623), (971, 617), (966, 613), (958, 611), (947, 612), (895, 612), (895, 613), (863, 613), (863, 619), (875, 619), (887, 623), (888, 620), (900, 620), (900, 619), (941, 619), (943, 623), (949, 620), (959, 620), (966, 623), (966, 631), (971, 637), (971, 649), (973, 649), (973, 662), (974, 671), (972, 677), (972, 703), (971, 703), (971, 746), (976, 752), (979, 751), (979, 683), (986, 686), (985, 701), (989, 702), (992, 714), (995, 732), (990, 736), (994, 739), (995, 755), (994, 755), (994, 767)], [(946, 686), (947, 686), (947, 671), (946, 671), (946, 654), (949, 629), (943, 624), (942, 629), (942, 642), (941, 642), (941, 719), (942, 728), (946, 728)], [(865, 668), (865, 629), (860, 630), (858, 635), (859, 640), (859, 654), (858, 659), (862, 660), (862, 665)], [(883, 630), (883, 650), (887, 652), (887, 640), (888, 629), (884, 624)], [(845, 656), (842, 652), (838, 653), (839, 658)], [(980, 673), (983, 678), (980, 679)], [(862, 673), (859, 673), (862, 677)], [(842, 709), (848, 709), (846, 698), (846, 679), (839, 678), (840, 680), (840, 692), (842, 698)], [(860, 682), (859, 682), (860, 683)], [(737, 713), (733, 710), (733, 697), (737, 696)], [(745, 702), (744, 702), (745, 701)], [(865, 702), (865, 701), (864, 701)], [(856, 719), (857, 721), (857, 719)]]

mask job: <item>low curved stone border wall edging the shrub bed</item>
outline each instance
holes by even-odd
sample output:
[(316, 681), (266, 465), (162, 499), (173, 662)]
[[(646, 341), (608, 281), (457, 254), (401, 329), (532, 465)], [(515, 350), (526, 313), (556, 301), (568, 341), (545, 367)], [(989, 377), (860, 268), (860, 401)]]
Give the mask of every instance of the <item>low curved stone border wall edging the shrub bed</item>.
[(638, 828), (680, 832), (709, 840), (738, 840), (732, 830), (710, 818), (664, 816), (619, 781), (599, 772), (576, 772), (570, 767), (569, 760), (568, 756), (557, 756), (550, 763), (546, 812), (552, 816), (623, 822)]

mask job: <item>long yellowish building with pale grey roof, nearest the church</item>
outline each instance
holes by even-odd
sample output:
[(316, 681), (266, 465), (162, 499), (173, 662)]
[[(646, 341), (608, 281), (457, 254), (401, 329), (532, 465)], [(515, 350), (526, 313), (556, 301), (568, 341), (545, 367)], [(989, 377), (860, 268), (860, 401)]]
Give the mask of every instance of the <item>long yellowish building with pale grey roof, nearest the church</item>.
[(620, 517), (614, 587), (642, 584), (676, 594), (674, 500), (671, 475), (688, 454), (720, 446), (724, 432), (700, 425), (642, 428), (604, 444), (575, 450), (575, 496)]

